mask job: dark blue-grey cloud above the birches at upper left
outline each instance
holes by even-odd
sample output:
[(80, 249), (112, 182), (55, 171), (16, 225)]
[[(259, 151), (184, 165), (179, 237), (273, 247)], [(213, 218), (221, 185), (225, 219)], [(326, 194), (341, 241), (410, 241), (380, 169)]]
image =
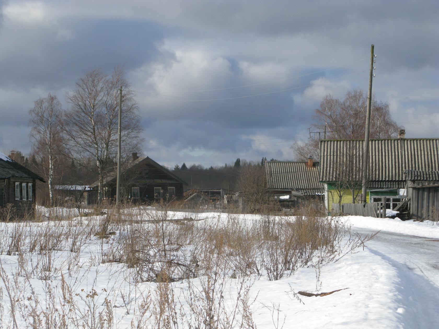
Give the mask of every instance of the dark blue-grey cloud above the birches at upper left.
[(0, 61), (7, 65), (0, 69), (0, 87), (57, 88), (95, 68), (111, 72), (120, 64), (131, 70), (166, 56), (159, 49), (162, 32), (151, 23), (79, 19), (63, 21), (62, 28), (13, 29), (15, 38), (2, 37)]

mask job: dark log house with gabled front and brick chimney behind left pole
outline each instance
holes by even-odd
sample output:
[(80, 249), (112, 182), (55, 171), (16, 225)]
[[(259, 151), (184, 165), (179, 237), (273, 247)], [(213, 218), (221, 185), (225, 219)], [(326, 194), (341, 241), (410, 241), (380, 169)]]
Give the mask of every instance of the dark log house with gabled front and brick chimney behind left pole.
[[(183, 186), (187, 183), (150, 157), (137, 157), (137, 153), (133, 153), (132, 161), (124, 167), (120, 185), (122, 200), (144, 204), (183, 198)], [(104, 179), (104, 200), (116, 199), (116, 180), (115, 174)], [(87, 204), (96, 204), (99, 182), (94, 182), (90, 188), (87, 191)]]

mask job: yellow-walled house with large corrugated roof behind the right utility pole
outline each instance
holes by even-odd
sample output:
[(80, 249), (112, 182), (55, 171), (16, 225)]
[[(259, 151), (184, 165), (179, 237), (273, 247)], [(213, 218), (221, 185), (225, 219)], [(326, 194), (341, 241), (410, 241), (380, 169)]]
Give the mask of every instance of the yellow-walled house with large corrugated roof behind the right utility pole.
[[(406, 170), (438, 171), (439, 138), (371, 139), (367, 202), (386, 198), (387, 209), (394, 209), (405, 195)], [(321, 140), (320, 175), (326, 207), (335, 203), (361, 200), (363, 140)]]

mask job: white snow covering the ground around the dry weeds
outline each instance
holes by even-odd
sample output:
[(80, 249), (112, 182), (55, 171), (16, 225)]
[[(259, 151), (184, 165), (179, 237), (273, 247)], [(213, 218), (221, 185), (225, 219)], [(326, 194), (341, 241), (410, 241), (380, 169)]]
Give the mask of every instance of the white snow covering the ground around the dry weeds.
[[(70, 211), (58, 211), (72, 215)], [(46, 215), (50, 216), (48, 211)], [(174, 218), (188, 215), (172, 213)], [(227, 221), (226, 214), (192, 216), (195, 219), (209, 218), (203, 222), (210, 221), (212, 225)], [(140, 316), (142, 303), (145, 304), (148, 293), (152, 299), (158, 298), (163, 292), (159, 289), (162, 284), (133, 283), (132, 270), (126, 264), (103, 262), (105, 251), (111, 250), (113, 241), (123, 234), (114, 226), (114, 236), (105, 239), (90, 236), (94, 223), (103, 218), (91, 216), (25, 225), (1, 223), (0, 232), (12, 239), (19, 237), (21, 230), (29, 230), (32, 237), (37, 228), (39, 234), (62, 232), (59, 234), (61, 240), (79, 231), (88, 237), (77, 241), (83, 246), (79, 250), (74, 248), (74, 241), (65, 240), (58, 241), (61, 247), (54, 247), (55, 250), (50, 252), (39, 251), (37, 247), (30, 253), (9, 252), (10, 255), (7, 255), (7, 247), (14, 244), (9, 240), (7, 243), (1, 241), (0, 260), (6, 285), (0, 283), (0, 328), (13, 327), (11, 299), (17, 300), (13, 308), (19, 328), (38, 318), (51, 321), (53, 328), (74, 327), (74, 323), (84, 319), (89, 328), (100, 325), (103, 328), (130, 328), (131, 325), (136, 327), (139, 321), (147, 323), (147, 319)], [(241, 220), (247, 222), (260, 219), (258, 215), (241, 215)], [(320, 272), (313, 267), (303, 267), (276, 281), (270, 281), (266, 274), (253, 275), (245, 280), (232, 279), (232, 275), (225, 280), (226, 288), (221, 296), (225, 309), (234, 310), (238, 291), (244, 285), (244, 290), (248, 287), (248, 294), (239, 296), (248, 301), (252, 322), (258, 328), (435, 328), (439, 323), (439, 241), (433, 240), (439, 240), (439, 226), (431, 222), (360, 216), (341, 220), (351, 226), (351, 232), (357, 231), (363, 236), (378, 230), (381, 232), (364, 248), (324, 265)], [(39, 238), (41, 241), (41, 236)], [(342, 242), (347, 239), (346, 236)], [(29, 248), (27, 244), (23, 244), (22, 249), (25, 248)], [(194, 308), (197, 304), (191, 304), (187, 296), (191, 289), (193, 292), (202, 289), (203, 280), (200, 277), (170, 284), (178, 312), (197, 311)], [(299, 291), (321, 293), (338, 289), (345, 290), (324, 297), (297, 295)], [(35, 306), (33, 313), (30, 312), (32, 306)], [(52, 311), (57, 308), (59, 314), (65, 315), (65, 322), (62, 318), (47, 318), (46, 307)], [(151, 307), (149, 312), (154, 312), (154, 309)], [(23, 318), (24, 314), (27, 314), (27, 319)], [(96, 322), (93, 322), (93, 316)], [(179, 316), (180, 313), (176, 315)], [(108, 320), (110, 318), (112, 323)], [(145, 324), (143, 327), (148, 328)], [(235, 323), (234, 327), (252, 325), (249, 322), (242, 326)]]

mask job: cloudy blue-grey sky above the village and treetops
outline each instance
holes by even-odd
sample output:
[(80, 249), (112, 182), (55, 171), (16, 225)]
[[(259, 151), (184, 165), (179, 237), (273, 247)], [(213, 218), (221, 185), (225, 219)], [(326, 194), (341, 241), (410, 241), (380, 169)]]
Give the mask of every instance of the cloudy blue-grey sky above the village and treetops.
[(0, 150), (30, 151), (34, 100), (68, 107), (85, 72), (123, 65), (143, 154), (291, 160), (322, 97), (367, 89), (371, 43), (377, 99), (407, 137), (439, 137), (438, 17), (437, 0), (0, 0)]

